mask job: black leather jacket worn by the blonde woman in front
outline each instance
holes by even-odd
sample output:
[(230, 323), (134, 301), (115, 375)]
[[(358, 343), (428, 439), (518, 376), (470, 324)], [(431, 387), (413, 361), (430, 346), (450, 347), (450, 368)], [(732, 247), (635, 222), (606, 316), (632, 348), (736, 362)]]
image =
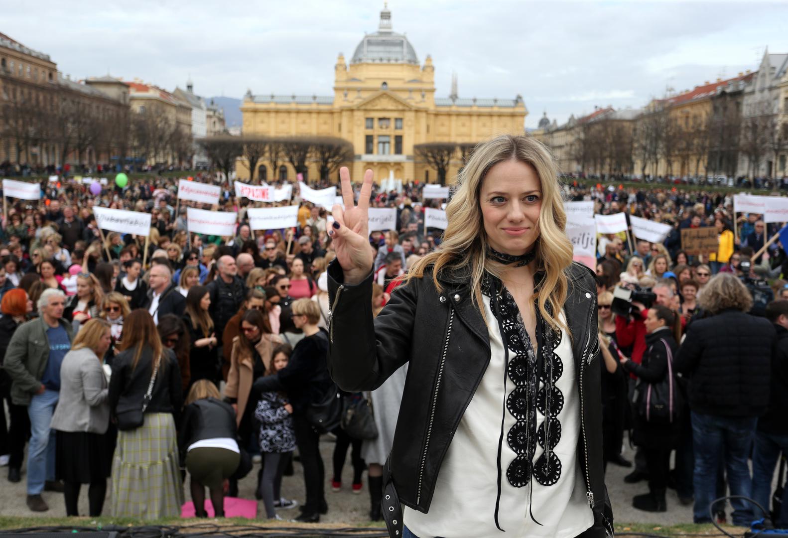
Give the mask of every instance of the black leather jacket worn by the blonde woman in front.
[[(344, 284), (329, 265), (329, 373), (344, 391), (379, 387), (409, 362), (392, 451), (385, 466), (383, 513), (392, 538), (402, 536), (400, 503), (427, 513), (440, 465), (490, 359), (489, 333), (470, 297), (470, 278), (432, 276), (396, 288), (372, 316), (372, 274)], [(595, 525), (583, 536), (612, 535), (604, 485), (597, 288), (591, 271), (572, 264), (564, 303), (572, 335), (581, 410), (579, 462)], [(413, 359), (413, 360), (411, 360)]]

